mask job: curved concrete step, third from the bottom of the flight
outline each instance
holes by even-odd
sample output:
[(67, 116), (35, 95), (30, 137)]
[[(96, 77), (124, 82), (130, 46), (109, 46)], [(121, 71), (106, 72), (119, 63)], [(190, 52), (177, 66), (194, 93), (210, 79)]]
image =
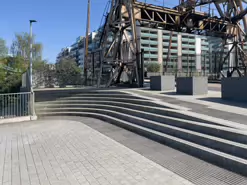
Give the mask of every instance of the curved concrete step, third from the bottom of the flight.
[[(177, 116), (177, 112), (175, 112), (176, 110), (152, 108), (152, 107), (149, 108), (144, 106), (125, 107), (125, 104), (122, 103), (120, 105), (121, 106), (109, 105), (108, 102), (106, 102), (105, 104), (99, 104), (99, 103), (88, 104), (86, 102), (85, 104), (79, 104), (79, 105), (78, 104), (61, 104), (61, 105), (50, 104), (50, 105), (46, 105), (45, 107), (38, 106), (36, 108), (36, 111), (44, 112), (52, 109), (56, 111), (59, 110), (60, 108), (63, 111), (73, 111), (73, 110), (80, 111), (81, 110), (80, 108), (82, 108), (82, 110), (84, 110), (84, 108), (111, 110), (119, 113), (125, 113), (128, 115), (144, 118), (147, 120), (159, 122), (162, 124), (183, 128), (186, 130), (195, 131), (198, 133), (203, 133), (218, 138), (223, 138), (237, 143), (247, 144), (246, 131), (241, 131), (225, 126), (219, 126), (217, 124), (213, 125), (200, 121), (186, 120), (182, 116), (181, 116), (182, 118), (179, 118), (176, 117)], [(150, 110), (152, 109), (162, 110), (164, 113), (163, 114), (155, 113), (155, 111), (153, 111), (154, 113), (150, 112)], [(167, 112), (170, 112), (170, 116), (166, 115)]]

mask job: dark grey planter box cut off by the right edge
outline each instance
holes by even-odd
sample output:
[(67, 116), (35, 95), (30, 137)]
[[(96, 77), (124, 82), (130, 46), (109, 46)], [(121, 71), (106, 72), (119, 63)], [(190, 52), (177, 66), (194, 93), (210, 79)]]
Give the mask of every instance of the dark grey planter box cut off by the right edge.
[(247, 101), (247, 77), (221, 79), (221, 98), (228, 100)]

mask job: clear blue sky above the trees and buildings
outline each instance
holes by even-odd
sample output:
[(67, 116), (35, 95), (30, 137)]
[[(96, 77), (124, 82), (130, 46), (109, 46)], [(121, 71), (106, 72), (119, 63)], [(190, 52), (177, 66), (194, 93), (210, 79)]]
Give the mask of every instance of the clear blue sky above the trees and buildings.
[[(98, 29), (107, 1), (91, 0), (91, 31)], [(163, 0), (146, 1), (163, 4)], [(169, 7), (178, 0), (164, 2)], [(0, 6), (0, 37), (7, 45), (11, 45), (15, 33), (29, 33), (29, 20), (35, 19), (35, 40), (43, 44), (43, 58), (51, 63), (62, 48), (86, 33), (87, 0), (1, 0)]]

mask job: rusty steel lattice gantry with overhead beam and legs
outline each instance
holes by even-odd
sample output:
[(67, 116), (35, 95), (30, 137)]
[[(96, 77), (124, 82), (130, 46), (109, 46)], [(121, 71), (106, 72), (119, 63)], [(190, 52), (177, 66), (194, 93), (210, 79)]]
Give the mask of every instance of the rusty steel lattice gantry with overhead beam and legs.
[[(240, 76), (246, 75), (246, 70), (243, 74), (238, 67), (240, 64), (244, 67), (247, 65), (243, 50), (247, 33), (245, 3), (242, 0), (180, 0), (178, 6), (167, 8), (136, 0), (111, 0), (100, 38), (98, 86), (105, 78), (106, 68), (111, 71), (105, 83), (107, 87), (119, 83), (126, 68), (130, 74), (130, 83), (141, 86), (143, 64), (137, 30), (142, 26), (220, 37), (224, 41), (222, 49), (231, 45), (221, 65), (234, 52), (237, 57), (230, 75), (234, 71)], [(215, 6), (218, 17), (197, 11), (197, 7), (202, 5)]]

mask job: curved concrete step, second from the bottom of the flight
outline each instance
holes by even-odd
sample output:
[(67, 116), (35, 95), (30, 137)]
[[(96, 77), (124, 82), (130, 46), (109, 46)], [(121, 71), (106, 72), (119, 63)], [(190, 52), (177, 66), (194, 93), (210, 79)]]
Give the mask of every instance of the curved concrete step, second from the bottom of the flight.
[[(167, 125), (166, 122), (172, 122), (174, 119), (172, 118), (166, 118), (166, 122), (163, 122), (163, 120), (160, 120), (160, 122), (157, 121), (152, 121), (148, 118), (145, 117), (145, 112), (141, 111), (135, 111), (131, 109), (125, 109), (125, 111), (120, 111), (118, 112), (117, 110), (109, 110), (109, 109), (99, 109), (97, 107), (92, 107), (92, 108), (47, 108), (44, 111), (40, 112), (58, 112), (58, 111), (65, 111), (65, 112), (94, 112), (94, 113), (99, 113), (99, 114), (106, 114), (112, 117), (116, 117), (118, 119), (128, 121), (131, 123), (135, 123), (137, 125), (147, 127), (159, 132), (163, 132), (168, 135), (172, 135), (177, 138), (181, 138), (190, 142), (197, 143), (202, 146), (206, 146), (215, 150), (219, 150), (221, 152), (229, 153), (231, 155), (237, 156), (237, 157), (242, 157), (247, 159), (247, 145), (245, 144), (240, 144), (237, 142), (233, 142), (230, 140), (222, 139), (221, 135), (215, 136), (210, 136), (207, 134), (203, 134), (201, 132), (195, 132), (191, 131), (190, 129), (184, 129), (184, 128), (179, 128), (171, 125)], [(132, 112), (135, 112), (133, 114)], [(124, 113), (123, 113), (124, 112)], [(152, 116), (155, 117), (153, 114)], [(176, 120), (177, 122), (183, 122), (183, 120)], [(207, 128), (210, 129), (210, 128)], [(211, 128), (215, 129), (215, 128)], [(203, 128), (200, 130), (202, 131)], [(236, 134), (237, 135), (237, 134)], [(247, 139), (247, 135), (245, 136), (245, 139)], [(242, 136), (242, 137), (243, 137)]]

